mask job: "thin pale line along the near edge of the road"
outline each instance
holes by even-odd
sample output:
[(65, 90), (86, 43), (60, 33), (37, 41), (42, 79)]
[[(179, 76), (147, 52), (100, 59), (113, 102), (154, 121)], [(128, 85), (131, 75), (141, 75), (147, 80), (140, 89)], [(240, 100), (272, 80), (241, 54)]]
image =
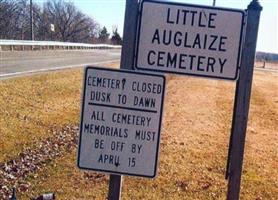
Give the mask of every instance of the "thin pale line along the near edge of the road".
[(101, 62), (93, 62), (93, 63), (82, 63), (82, 64), (78, 64), (78, 65), (67, 65), (67, 66), (61, 66), (61, 67), (52, 67), (52, 68), (30, 70), (30, 71), (23, 71), (23, 72), (13, 72), (13, 73), (8, 73), (8, 74), (0, 74), (0, 79), (1, 78), (7, 78), (7, 77), (14, 77), (14, 76), (27, 75), (27, 74), (40, 73), (40, 72), (70, 69), (70, 68), (76, 68), (76, 67), (82, 67), (82, 66), (88, 66), (88, 65), (99, 65), (99, 64), (105, 64), (105, 63), (111, 63), (111, 62), (117, 62), (117, 61), (120, 61), (120, 59), (114, 59), (114, 60), (109, 60), (109, 61), (101, 61)]

